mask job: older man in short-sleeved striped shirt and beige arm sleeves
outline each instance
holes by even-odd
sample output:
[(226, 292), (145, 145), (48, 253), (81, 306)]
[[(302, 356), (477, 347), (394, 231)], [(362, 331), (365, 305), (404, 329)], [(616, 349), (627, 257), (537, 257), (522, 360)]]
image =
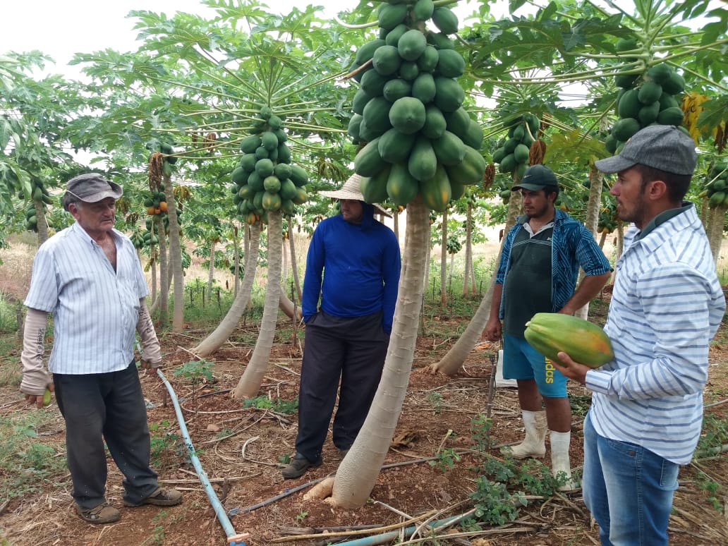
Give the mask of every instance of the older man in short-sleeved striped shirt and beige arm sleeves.
[[(111, 523), (119, 510), (106, 499), (106, 451), (124, 474), (124, 506), (173, 506), (175, 489), (160, 488), (149, 467), (146, 405), (134, 360), (156, 373), (159, 341), (144, 298), (149, 290), (132, 242), (114, 229), (122, 186), (96, 173), (66, 184), (63, 208), (76, 223), (55, 234), (33, 260), (23, 331), (25, 399), (44, 405), (53, 390), (66, 422), (66, 454), (76, 513), (87, 523)], [(43, 365), (47, 314), (53, 349)], [(52, 378), (50, 376), (52, 372)]]

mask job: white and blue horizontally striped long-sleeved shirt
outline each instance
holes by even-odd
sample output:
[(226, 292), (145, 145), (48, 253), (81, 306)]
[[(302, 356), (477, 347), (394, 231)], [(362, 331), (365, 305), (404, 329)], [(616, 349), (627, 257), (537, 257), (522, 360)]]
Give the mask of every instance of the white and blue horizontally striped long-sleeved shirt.
[(689, 206), (641, 238), (631, 226), (624, 248), (604, 327), (615, 359), (586, 377), (592, 422), (605, 438), (687, 464), (726, 306), (708, 237)]

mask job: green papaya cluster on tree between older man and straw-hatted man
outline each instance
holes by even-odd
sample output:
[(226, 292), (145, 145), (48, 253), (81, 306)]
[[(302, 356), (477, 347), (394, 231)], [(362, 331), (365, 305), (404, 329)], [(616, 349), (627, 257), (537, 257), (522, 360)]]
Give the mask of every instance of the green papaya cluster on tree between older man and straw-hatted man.
[(266, 221), (268, 211), (293, 215), (306, 201), (306, 171), (291, 165), (288, 135), (282, 119), (264, 106), (253, 122), (253, 134), (240, 143), (242, 156), (232, 171), (233, 202), (248, 223)]

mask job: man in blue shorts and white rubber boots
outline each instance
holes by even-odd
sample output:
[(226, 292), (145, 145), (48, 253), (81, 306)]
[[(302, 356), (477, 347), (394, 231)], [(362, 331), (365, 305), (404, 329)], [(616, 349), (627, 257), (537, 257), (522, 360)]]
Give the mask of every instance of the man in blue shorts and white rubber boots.
[[(598, 294), (612, 268), (584, 224), (555, 207), (556, 175), (531, 165), (513, 191), (521, 191), (525, 214), (506, 235), (496, 274), (491, 314), (483, 330), (490, 341), (503, 339), (503, 377), (518, 384), (526, 438), (505, 448), (516, 459), (546, 454), (550, 431), (551, 471), (571, 480), (571, 406), (566, 378), (524, 337), (526, 323), (539, 312), (574, 314)], [(579, 267), (586, 276), (579, 282)], [(501, 323), (503, 320), (503, 323)], [(566, 333), (565, 333), (566, 334)]]

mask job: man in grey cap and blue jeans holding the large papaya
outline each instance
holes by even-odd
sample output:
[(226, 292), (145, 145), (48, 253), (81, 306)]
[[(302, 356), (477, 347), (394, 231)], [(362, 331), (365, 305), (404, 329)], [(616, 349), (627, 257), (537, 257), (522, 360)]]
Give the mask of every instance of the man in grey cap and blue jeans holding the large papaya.
[(696, 162), (692, 138), (668, 125), (595, 162), (617, 173), (610, 193), (633, 223), (604, 326), (614, 360), (593, 369), (560, 352), (566, 365), (556, 367), (592, 391), (583, 488), (602, 545), (668, 544), (679, 465), (700, 436), (708, 348), (726, 301), (703, 223), (683, 201)]

